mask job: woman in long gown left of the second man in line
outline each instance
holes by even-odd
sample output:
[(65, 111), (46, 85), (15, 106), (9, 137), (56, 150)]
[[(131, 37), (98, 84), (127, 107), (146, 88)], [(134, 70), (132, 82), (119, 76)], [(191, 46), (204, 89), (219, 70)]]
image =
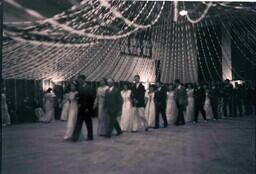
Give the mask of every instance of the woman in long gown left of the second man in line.
[(105, 98), (105, 92), (108, 86), (106, 79), (100, 81), (100, 87), (97, 89), (96, 100), (94, 101), (94, 108), (98, 108), (98, 128), (97, 133), (99, 136), (104, 136), (107, 134), (107, 118), (104, 114), (103, 103)]

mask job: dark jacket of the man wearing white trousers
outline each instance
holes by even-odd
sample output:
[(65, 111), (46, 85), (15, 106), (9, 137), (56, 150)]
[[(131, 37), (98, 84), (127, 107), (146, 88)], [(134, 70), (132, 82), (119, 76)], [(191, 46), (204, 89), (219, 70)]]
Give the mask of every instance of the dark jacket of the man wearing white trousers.
[[(138, 88), (136, 88), (136, 85), (132, 88), (132, 105), (134, 107), (145, 107), (145, 88), (140, 83)], [(137, 101), (137, 103), (135, 102)]]

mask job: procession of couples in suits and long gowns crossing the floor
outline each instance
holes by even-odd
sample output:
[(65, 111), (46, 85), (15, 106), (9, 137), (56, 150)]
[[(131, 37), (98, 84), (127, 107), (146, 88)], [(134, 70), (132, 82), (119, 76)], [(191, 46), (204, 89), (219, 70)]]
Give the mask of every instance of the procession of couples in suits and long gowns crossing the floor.
[[(199, 113), (205, 121), (217, 120), (224, 106), (221, 99), (225, 97), (216, 85), (194, 88), (189, 84), (185, 88), (179, 80), (175, 80), (168, 87), (157, 82), (146, 91), (139, 75), (134, 77), (134, 81), (126, 82), (123, 90), (119, 91), (113, 79), (103, 79), (94, 100), (93, 89), (86, 84), (85, 76), (79, 76), (76, 84), (70, 85), (71, 91), (64, 96), (61, 114), (61, 120), (67, 120), (64, 139), (77, 141), (85, 121), (87, 140), (93, 140), (91, 117), (96, 108), (97, 134), (111, 137), (113, 129), (120, 135), (123, 131), (137, 132), (143, 128), (148, 131), (149, 128), (165, 128), (169, 124), (197, 123)], [(120, 121), (118, 116), (121, 116)]]

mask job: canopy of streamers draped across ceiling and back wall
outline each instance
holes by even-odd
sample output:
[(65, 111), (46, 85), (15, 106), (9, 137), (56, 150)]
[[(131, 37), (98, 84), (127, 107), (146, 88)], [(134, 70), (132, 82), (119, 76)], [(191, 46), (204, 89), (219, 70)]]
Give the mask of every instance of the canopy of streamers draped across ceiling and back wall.
[[(255, 47), (245, 40), (256, 41), (255, 9), (246, 3), (84, 0), (50, 18), (36, 13), (40, 19), (34, 22), (5, 23), (3, 77), (62, 81), (82, 73), (98, 81), (132, 80), (139, 74), (142, 81), (154, 82), (160, 60), (163, 82), (196, 82), (198, 71), (205, 81), (221, 80), (218, 64), (228, 62), (219, 54), (217, 27), (255, 65)], [(123, 54), (127, 38), (144, 31), (150, 37), (134, 42), (140, 52)]]

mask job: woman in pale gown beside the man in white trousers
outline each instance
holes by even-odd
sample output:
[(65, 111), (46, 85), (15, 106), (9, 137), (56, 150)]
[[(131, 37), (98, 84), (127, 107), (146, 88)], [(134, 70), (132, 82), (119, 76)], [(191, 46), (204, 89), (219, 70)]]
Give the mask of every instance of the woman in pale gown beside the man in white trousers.
[(123, 105), (122, 105), (120, 127), (122, 131), (132, 131), (133, 114), (132, 114), (131, 90), (129, 89), (128, 82), (124, 84), (124, 89), (121, 91), (121, 97), (123, 99)]

